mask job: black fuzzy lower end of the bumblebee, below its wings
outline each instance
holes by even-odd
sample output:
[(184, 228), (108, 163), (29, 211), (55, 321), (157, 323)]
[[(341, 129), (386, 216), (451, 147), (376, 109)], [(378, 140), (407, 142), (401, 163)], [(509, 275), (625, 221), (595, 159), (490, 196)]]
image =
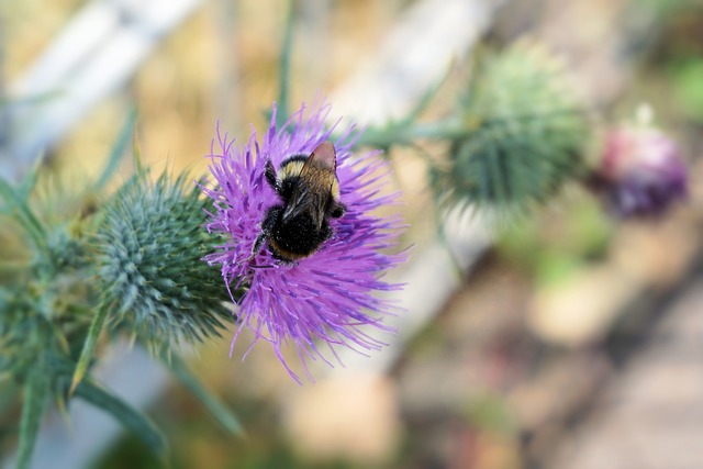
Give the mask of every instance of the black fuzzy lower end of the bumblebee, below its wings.
[(294, 260), (313, 254), (330, 235), (326, 221), (319, 230), (309, 214), (301, 213), (286, 223), (279, 219), (271, 230), (269, 244), (280, 258)]

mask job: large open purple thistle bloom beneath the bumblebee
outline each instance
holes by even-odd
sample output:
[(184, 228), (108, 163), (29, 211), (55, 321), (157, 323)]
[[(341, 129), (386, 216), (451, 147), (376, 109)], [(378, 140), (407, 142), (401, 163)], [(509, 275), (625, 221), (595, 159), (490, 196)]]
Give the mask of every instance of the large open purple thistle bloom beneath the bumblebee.
[(284, 344), (294, 344), (311, 380), (306, 358), (320, 357), (332, 366), (325, 349), (336, 355), (334, 347), (338, 345), (358, 351), (384, 345), (367, 335), (365, 327), (392, 331), (382, 317), (399, 310), (376, 293), (401, 288), (384, 281), (383, 276), (405, 258), (403, 254), (388, 253), (398, 245), (400, 219), (372, 213), (398, 199), (398, 193), (384, 191), (389, 165), (378, 157), (378, 152), (352, 156), (352, 146), (358, 138), (354, 127), (334, 142), (339, 201), (346, 212), (328, 220), (332, 236), (314, 254), (294, 263), (277, 259), (267, 243), (253, 256), (267, 210), (281, 203), (265, 177), (266, 161), (270, 159), (278, 168), (287, 157), (310, 155), (331, 138), (334, 126), (325, 129), (330, 105), (314, 103), (308, 115), (304, 111), (303, 105), (282, 129), (277, 129), (274, 105), (264, 137), (257, 139), (253, 131), (245, 146), (235, 147), (234, 138), (222, 135), (217, 127), (210, 155), (215, 185), (203, 188), (214, 202), (207, 227), (224, 234), (226, 239), (204, 260), (221, 266), (231, 295), (236, 289), (245, 290), (236, 301), (241, 325), (232, 344), (242, 327), (248, 327), (255, 334), (249, 350), (259, 339), (269, 342), (299, 382), (281, 354)]

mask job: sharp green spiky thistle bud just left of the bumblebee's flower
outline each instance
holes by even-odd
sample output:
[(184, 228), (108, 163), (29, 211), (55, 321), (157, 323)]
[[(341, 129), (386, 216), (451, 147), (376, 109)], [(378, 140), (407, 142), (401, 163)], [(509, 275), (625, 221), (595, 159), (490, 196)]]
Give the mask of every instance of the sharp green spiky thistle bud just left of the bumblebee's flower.
[(231, 320), (220, 272), (201, 260), (217, 238), (202, 228), (207, 201), (183, 176), (135, 176), (107, 204), (98, 277), (113, 323), (152, 345), (202, 340)]

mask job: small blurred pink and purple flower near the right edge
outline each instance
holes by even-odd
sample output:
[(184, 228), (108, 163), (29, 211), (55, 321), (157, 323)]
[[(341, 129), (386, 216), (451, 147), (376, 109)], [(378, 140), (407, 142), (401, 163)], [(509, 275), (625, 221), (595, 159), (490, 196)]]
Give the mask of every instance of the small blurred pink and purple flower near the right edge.
[(606, 137), (594, 182), (617, 215), (646, 216), (684, 199), (688, 175), (667, 135), (652, 127), (622, 127)]

